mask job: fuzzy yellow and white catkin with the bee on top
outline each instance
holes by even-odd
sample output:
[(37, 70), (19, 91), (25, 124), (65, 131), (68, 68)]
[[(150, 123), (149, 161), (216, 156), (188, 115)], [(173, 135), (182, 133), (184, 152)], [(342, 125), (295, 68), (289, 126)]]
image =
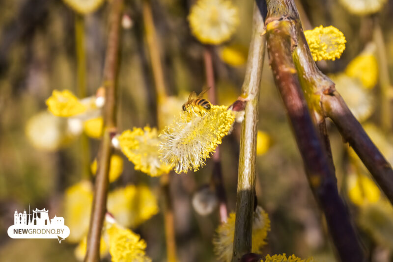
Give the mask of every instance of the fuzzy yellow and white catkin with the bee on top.
[(189, 105), (160, 134), (162, 162), (176, 173), (197, 171), (229, 133), (235, 116), (225, 105)]

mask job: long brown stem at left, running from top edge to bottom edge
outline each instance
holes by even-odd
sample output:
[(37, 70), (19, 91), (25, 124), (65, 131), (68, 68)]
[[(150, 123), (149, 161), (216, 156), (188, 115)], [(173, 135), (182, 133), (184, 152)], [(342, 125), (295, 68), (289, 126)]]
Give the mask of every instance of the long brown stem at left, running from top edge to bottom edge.
[(87, 236), (87, 250), (84, 261), (100, 261), (101, 231), (107, 205), (109, 185), (109, 168), (112, 155), (111, 133), (116, 129), (116, 77), (120, 41), (120, 21), (123, 0), (113, 0), (109, 16), (108, 46), (105, 57), (103, 86), (105, 88), (105, 105), (103, 109), (104, 130), (98, 153), (98, 168), (95, 181), (93, 207)]

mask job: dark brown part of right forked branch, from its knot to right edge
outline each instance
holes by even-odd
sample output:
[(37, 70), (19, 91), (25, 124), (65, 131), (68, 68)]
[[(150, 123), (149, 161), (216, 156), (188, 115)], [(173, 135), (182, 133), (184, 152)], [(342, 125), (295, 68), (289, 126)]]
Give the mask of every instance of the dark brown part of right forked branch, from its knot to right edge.
[(362, 125), (356, 120), (337, 91), (331, 96), (323, 96), (322, 105), (326, 115), (333, 120), (342, 137), (355, 150), (389, 201), (393, 204), (392, 166), (373, 144)]

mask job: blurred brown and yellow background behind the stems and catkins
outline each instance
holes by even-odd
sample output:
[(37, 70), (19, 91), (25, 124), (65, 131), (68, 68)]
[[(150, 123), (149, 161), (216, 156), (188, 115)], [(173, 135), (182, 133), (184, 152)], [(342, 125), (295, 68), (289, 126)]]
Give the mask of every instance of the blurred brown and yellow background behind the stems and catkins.
[[(68, 2), (0, 1), (1, 261), (26, 258), (32, 262), (78, 261), (76, 248), (86, 234), (90, 183), (95, 172), (91, 171), (90, 163), (97, 156), (99, 135), (94, 134), (94, 123), (83, 120), (75, 124), (70, 119), (51, 115), (45, 101), (55, 89), (68, 89), (80, 99), (96, 95), (102, 82), (110, 3), (104, 1), (96, 10), (82, 15)], [(229, 41), (213, 50), (219, 105), (230, 105), (240, 95), (251, 37), (253, 1), (232, 2), (239, 10), (239, 26)], [(318, 62), (318, 66), (334, 79), (351, 110), (393, 163), (392, 117), (381, 107), (384, 103), (391, 105), (393, 97), (393, 1), (382, 4), (377, 11), (366, 10), (361, 14), (348, 9), (347, 2), (350, 6), (368, 1), (297, 0), (296, 4), (305, 30), (332, 25), (345, 35), (346, 49), (341, 58)], [(187, 21), (192, 4), (191, 0), (151, 1), (156, 48), (161, 54), (167, 93), (180, 101), (179, 105), (173, 103), (179, 106), (178, 110), (190, 92), (199, 93), (206, 87), (203, 45), (191, 34)], [(156, 91), (142, 1), (125, 1), (124, 11), (117, 101), (120, 132), (134, 127), (157, 127)], [(86, 88), (82, 91), (77, 77), (81, 52), (77, 44), (78, 25), (84, 28), (86, 57)], [(354, 60), (362, 55), (368, 57), (366, 62), (362, 60), (363, 64), (359, 59)], [(351, 63), (352, 68), (349, 68)], [(390, 125), (384, 124), (386, 115)], [(258, 130), (256, 194), (258, 204), (271, 220), (268, 244), (262, 254), (286, 253), (336, 261), (274, 85), (267, 55)], [(239, 133), (240, 125), (235, 124), (233, 132), (220, 145), (229, 211), (234, 211), (236, 205)], [(338, 188), (351, 211), (369, 260), (392, 261), (393, 210), (331, 123), (329, 134)], [(124, 218), (124, 226), (132, 228), (146, 241), (146, 253), (153, 261), (166, 261), (160, 178), (136, 171), (134, 164), (120, 151), (116, 155), (121, 158), (117, 160), (122, 162), (122, 171), (110, 184), (110, 191), (145, 185), (159, 207), (145, 221), (134, 223), (130, 222), (131, 218)], [(212, 169), (213, 161), (208, 159), (206, 166), (195, 173), (170, 173), (179, 261), (216, 261), (212, 238), (219, 225), (218, 211), (201, 215), (191, 204), (199, 188), (210, 182)], [(120, 200), (114, 198), (114, 202), (124, 202), (121, 194)], [(63, 216), (75, 234), (60, 245), (54, 239), (9, 238), (6, 231), (13, 223), (15, 209), (22, 212), (28, 205), (31, 209), (49, 209), (50, 217)], [(121, 213), (127, 212), (127, 205), (114, 206)], [(103, 261), (110, 261), (110, 257), (104, 257)]]

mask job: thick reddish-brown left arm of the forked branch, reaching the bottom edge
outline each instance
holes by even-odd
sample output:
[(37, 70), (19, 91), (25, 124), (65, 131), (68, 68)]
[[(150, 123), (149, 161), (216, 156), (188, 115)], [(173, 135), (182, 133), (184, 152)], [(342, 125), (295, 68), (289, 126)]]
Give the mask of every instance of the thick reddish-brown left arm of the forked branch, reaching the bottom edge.
[[(299, 44), (295, 23), (300, 22), (296, 7), (293, 0), (267, 0), (267, 4), (266, 37), (269, 62), (303, 158), (311, 190), (325, 214), (341, 261), (365, 261), (348, 210), (338, 195), (336, 177), (326, 154), (328, 147), (322, 144), (309, 113), (309, 107), (318, 108), (318, 103), (314, 104), (318, 100), (313, 99), (313, 93), (305, 92), (311, 102), (307, 105), (301, 89), (302, 80), (307, 82), (318, 79), (301, 78), (299, 81), (298, 74), (302, 76), (302, 73), (296, 70), (292, 58), (292, 52)], [(313, 118), (317, 119), (316, 115), (313, 115)], [(321, 131), (324, 132), (323, 126)]]

